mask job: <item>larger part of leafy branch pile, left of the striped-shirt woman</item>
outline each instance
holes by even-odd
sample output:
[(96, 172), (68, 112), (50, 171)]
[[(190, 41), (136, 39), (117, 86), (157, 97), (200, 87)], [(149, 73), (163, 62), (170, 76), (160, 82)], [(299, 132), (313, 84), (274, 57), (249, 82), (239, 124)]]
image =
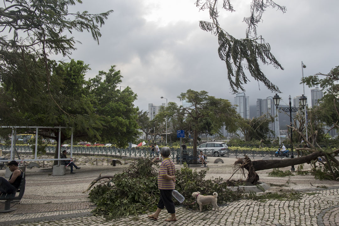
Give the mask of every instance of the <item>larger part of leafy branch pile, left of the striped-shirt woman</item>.
[(92, 212), (115, 219), (154, 210), (160, 193), (153, 165), (148, 159), (139, 159), (124, 172), (93, 188), (89, 199), (97, 207)]

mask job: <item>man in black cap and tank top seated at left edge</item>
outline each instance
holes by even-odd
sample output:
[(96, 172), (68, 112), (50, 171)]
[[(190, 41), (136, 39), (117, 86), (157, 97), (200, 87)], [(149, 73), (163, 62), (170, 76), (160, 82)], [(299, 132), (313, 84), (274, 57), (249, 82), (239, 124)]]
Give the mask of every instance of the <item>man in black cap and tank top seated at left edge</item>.
[(0, 195), (11, 194), (16, 192), (18, 187), (20, 186), (21, 178), (22, 178), (22, 170), (19, 169), (17, 161), (13, 160), (7, 163), (9, 170), (11, 170), (12, 174), (7, 181), (5, 178), (0, 177)]

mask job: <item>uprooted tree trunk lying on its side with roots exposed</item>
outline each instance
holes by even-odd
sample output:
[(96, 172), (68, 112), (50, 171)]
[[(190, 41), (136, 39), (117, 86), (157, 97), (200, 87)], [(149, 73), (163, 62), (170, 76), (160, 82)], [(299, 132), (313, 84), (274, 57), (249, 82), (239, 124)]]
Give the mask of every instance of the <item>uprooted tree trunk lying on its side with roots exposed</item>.
[[(289, 126), (290, 127), (290, 126)], [(326, 170), (328, 174), (331, 175), (329, 179), (338, 180), (339, 175), (336, 172), (339, 171), (339, 161), (334, 157), (339, 154), (339, 148), (334, 151), (325, 151), (317, 143), (314, 145), (306, 140), (301, 132), (296, 130), (293, 127), (290, 127), (293, 131), (296, 131), (304, 138), (307, 142), (308, 147), (296, 148), (296, 151), (303, 150), (310, 154), (293, 159), (283, 159), (283, 160), (255, 160), (251, 161), (250, 158), (245, 156), (244, 158), (238, 159), (234, 164), (238, 165), (241, 169), (246, 169), (248, 171), (246, 182), (256, 184), (259, 181), (259, 176), (255, 171), (264, 170), (264, 169), (273, 169), (273, 168), (282, 168), (292, 165), (299, 165), (302, 163), (313, 164), (319, 161), (318, 157), (322, 157), (326, 162), (319, 161), (323, 164), (323, 170)]]

